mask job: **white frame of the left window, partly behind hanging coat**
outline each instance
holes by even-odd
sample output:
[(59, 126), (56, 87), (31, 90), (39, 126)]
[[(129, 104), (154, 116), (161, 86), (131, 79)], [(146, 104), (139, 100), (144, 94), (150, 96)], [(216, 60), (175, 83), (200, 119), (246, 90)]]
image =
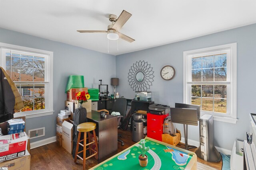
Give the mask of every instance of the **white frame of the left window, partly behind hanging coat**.
[[(6, 70), (6, 55), (5, 49), (22, 51), (24, 53), (36, 53), (38, 55), (46, 56), (45, 59), (48, 62), (48, 66), (45, 67), (45, 72), (48, 72), (47, 80), (45, 84), (45, 109), (24, 111), (14, 113), (14, 117), (26, 116), (26, 118), (40, 117), (45, 115), (52, 115), (53, 111), (53, 52), (40, 49), (34, 49), (29, 47), (22, 47), (18, 45), (6, 44), (0, 42), (0, 66)], [(46, 70), (47, 69), (47, 70)]]

